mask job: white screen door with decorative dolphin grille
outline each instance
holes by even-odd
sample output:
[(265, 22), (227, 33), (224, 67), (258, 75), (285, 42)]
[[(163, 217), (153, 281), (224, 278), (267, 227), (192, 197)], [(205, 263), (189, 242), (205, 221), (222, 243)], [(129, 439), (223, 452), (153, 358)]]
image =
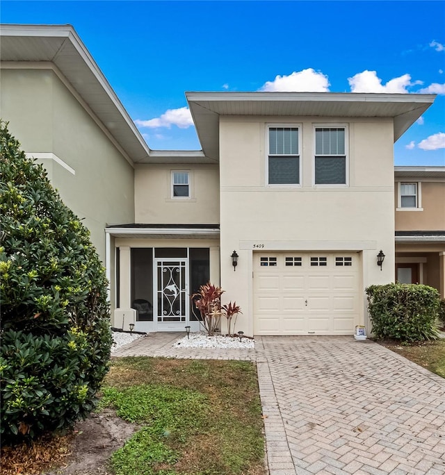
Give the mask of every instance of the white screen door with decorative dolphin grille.
[(157, 258), (154, 266), (157, 331), (185, 331), (188, 325), (188, 260)]

